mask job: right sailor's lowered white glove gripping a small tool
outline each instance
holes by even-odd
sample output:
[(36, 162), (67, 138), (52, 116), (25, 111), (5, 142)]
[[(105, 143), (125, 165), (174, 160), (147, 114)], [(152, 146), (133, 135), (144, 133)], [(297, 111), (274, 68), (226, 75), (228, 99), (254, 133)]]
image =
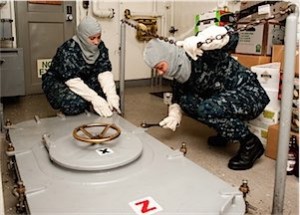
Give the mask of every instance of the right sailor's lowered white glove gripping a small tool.
[(164, 118), (159, 125), (163, 128), (169, 128), (172, 131), (175, 131), (176, 128), (180, 125), (181, 122), (181, 108), (178, 104), (172, 104), (169, 106), (168, 116)]

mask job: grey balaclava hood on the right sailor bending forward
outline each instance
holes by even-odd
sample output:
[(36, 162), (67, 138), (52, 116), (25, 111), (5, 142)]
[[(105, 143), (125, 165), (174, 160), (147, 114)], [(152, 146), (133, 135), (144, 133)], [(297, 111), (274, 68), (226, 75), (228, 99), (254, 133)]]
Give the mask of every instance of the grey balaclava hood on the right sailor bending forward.
[(144, 50), (145, 63), (154, 68), (161, 61), (169, 64), (166, 75), (184, 83), (191, 74), (191, 62), (184, 49), (159, 39), (150, 40)]

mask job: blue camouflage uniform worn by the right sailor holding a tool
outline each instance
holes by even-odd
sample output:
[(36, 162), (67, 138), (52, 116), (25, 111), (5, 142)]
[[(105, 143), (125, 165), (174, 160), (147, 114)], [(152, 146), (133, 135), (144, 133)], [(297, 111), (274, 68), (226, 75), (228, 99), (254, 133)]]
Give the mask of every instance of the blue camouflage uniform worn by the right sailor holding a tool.
[(205, 51), (198, 60), (191, 61), (188, 81), (174, 80), (172, 84), (172, 102), (227, 140), (249, 135), (245, 122), (256, 118), (270, 101), (256, 74), (228, 53), (237, 41), (238, 35), (233, 34), (221, 50)]

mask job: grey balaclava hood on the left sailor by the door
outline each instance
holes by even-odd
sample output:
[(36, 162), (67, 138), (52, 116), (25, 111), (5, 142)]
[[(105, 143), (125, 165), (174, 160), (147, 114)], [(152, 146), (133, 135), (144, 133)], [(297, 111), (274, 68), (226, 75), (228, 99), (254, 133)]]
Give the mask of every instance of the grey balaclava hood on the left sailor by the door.
[(97, 45), (88, 41), (90, 36), (101, 33), (100, 23), (93, 17), (84, 17), (77, 27), (77, 33), (73, 39), (79, 44), (85, 62), (93, 64), (100, 52)]

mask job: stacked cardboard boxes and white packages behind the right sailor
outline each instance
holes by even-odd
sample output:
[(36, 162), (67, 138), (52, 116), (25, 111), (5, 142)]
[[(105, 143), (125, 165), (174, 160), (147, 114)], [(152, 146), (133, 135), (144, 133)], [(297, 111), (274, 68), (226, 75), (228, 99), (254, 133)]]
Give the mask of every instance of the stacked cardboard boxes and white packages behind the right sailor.
[[(266, 2), (266, 1), (265, 1)], [(241, 11), (247, 11), (247, 7), (253, 11), (255, 4), (261, 4), (260, 7), (268, 8), (262, 5), (262, 1), (247, 1), (241, 4)], [(275, 8), (276, 2), (269, 7)], [(263, 8), (263, 10), (265, 9)], [(259, 13), (259, 11), (258, 11)], [(247, 19), (241, 19), (238, 28), (247, 25)], [(255, 133), (266, 148), (265, 155), (272, 159), (277, 157), (279, 122), (280, 122), (280, 95), (281, 79), (284, 66), (284, 35), (285, 26), (273, 20), (265, 24), (253, 26), (246, 31), (239, 33), (239, 43), (232, 56), (242, 65), (251, 68), (257, 74), (258, 80), (266, 90), (270, 103), (263, 113), (255, 120), (248, 122), (249, 129)], [(296, 56), (295, 77), (299, 75), (299, 56)], [(293, 84), (293, 83), (291, 83)], [(293, 119), (291, 135), (295, 135), (299, 142), (299, 79), (294, 83), (294, 101), (293, 101)]]

